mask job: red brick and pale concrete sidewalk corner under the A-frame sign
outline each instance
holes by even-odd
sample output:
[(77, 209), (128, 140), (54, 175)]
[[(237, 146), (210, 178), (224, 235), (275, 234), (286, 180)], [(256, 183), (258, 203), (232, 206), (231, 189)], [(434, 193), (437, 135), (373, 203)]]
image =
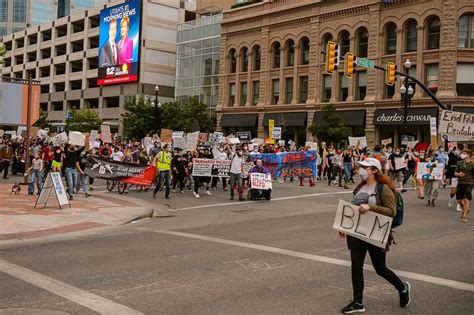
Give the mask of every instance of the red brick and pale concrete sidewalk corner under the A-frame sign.
[(13, 184), (0, 183), (0, 241), (37, 238), (104, 226), (116, 226), (152, 217), (154, 206), (127, 195), (98, 192), (89, 198), (76, 194), (71, 208), (60, 210), (54, 192), (46, 207), (34, 209), (36, 195), (27, 194), (21, 186), (18, 195), (11, 194)]

